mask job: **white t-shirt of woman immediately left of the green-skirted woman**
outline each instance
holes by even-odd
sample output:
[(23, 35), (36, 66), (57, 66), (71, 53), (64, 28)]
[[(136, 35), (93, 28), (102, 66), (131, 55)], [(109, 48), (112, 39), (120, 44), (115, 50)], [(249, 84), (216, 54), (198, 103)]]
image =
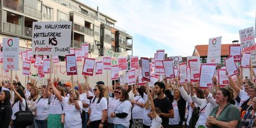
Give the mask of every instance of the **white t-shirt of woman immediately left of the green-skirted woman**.
[(48, 98), (40, 98), (36, 104), (36, 119), (44, 120), (48, 117), (49, 114), (49, 104)]

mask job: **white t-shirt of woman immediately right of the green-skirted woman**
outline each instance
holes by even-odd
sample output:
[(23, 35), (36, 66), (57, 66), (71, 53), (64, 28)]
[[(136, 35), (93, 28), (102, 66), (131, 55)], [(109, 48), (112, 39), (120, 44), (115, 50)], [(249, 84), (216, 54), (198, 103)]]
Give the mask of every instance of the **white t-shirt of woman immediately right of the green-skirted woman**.
[(68, 104), (68, 100), (64, 101), (63, 113), (65, 114), (64, 128), (81, 128), (82, 127), (82, 102), (77, 101), (80, 110), (75, 108), (75, 104)]

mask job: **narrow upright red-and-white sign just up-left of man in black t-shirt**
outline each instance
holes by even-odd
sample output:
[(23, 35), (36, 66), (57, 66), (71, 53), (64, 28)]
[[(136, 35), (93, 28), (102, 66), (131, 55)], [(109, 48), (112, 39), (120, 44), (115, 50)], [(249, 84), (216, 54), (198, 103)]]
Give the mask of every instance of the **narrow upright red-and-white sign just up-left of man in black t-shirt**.
[(141, 57), (142, 77), (146, 81), (150, 81), (150, 65), (146, 57)]

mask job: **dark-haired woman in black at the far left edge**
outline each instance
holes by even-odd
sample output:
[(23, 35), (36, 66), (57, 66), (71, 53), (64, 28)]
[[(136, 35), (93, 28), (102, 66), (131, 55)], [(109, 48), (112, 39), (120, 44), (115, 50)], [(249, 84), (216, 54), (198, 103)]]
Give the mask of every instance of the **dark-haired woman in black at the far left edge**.
[(11, 94), (8, 90), (2, 90), (0, 94), (0, 127), (8, 128), (11, 122)]

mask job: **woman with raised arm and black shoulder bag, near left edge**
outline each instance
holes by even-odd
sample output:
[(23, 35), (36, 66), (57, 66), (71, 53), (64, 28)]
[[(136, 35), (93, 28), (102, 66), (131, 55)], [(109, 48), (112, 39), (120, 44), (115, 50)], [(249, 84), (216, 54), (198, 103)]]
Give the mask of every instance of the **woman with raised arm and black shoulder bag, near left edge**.
[(19, 128), (23, 128), (26, 127), (23, 124), (20, 124), (18, 122), (16, 122), (16, 112), (19, 112), (19, 105), (21, 106), (22, 110), (26, 110), (26, 106), (27, 106), (27, 101), (26, 101), (26, 97), (25, 94), (23, 92), (22, 89), (17, 89), (15, 90), (14, 86), (11, 85), (11, 90), (14, 91), (14, 103), (12, 106), (12, 110), (13, 110), (13, 114), (11, 115), (11, 119), (13, 119), (13, 128), (19, 127)]

